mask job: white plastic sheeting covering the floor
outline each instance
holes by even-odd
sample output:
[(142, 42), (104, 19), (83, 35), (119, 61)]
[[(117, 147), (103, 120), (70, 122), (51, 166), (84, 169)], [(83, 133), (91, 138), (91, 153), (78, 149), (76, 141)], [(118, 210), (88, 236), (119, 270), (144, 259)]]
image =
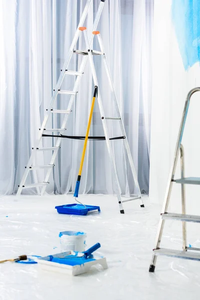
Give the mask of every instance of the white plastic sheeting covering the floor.
[[(0, 198), (0, 259), (21, 254), (60, 252), (60, 231), (87, 233), (89, 246), (100, 242), (97, 253), (108, 269), (79, 276), (39, 271), (38, 264), (0, 264), (0, 300), (184, 300), (198, 299), (200, 262), (158, 257), (154, 273), (148, 268), (161, 207), (145, 208), (138, 200), (124, 203), (120, 214), (114, 196), (80, 195), (84, 204), (99, 205), (101, 212), (87, 216), (58, 214), (55, 205), (73, 203), (72, 195), (4, 196)], [(198, 246), (198, 224), (190, 229), (189, 243)], [(164, 246), (181, 249), (181, 225), (167, 224)]]

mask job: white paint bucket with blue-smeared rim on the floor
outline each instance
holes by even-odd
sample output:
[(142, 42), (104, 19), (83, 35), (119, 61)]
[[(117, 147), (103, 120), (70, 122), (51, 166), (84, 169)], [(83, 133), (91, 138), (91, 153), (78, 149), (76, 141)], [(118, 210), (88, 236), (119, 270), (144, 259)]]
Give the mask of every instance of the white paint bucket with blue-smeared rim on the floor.
[(83, 252), (86, 246), (86, 233), (80, 231), (62, 231), (59, 233), (60, 251)]

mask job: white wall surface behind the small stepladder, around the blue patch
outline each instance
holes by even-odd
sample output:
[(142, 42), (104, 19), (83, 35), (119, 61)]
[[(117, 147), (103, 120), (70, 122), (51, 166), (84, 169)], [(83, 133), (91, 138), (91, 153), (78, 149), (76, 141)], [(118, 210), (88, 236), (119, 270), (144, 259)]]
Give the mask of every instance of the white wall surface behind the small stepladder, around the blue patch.
[[(179, 1), (180, 2), (180, 1)], [(181, 1), (182, 2), (182, 1)], [(178, 18), (188, 17), (185, 13), (184, 1), (178, 6)], [(173, 0), (176, 3), (176, 0)], [(185, 69), (185, 59), (181, 55), (184, 44), (179, 44), (179, 37), (172, 22), (172, 1), (154, 1), (153, 26), (153, 84), (151, 112), (151, 145), (150, 145), (150, 183), (149, 198), (151, 202), (162, 203), (166, 190), (169, 170), (175, 151), (177, 134), (180, 126), (184, 103), (188, 91), (200, 86), (199, 62)], [(199, 6), (198, 6), (199, 7)], [(181, 8), (181, 9), (180, 9)], [(178, 13), (177, 11), (177, 13)], [(190, 15), (192, 18), (192, 15)], [(192, 20), (192, 19), (191, 19)], [(193, 22), (194, 24), (195, 22)], [(179, 23), (177, 23), (178, 26)], [(194, 26), (195, 27), (195, 26)], [(184, 30), (183, 27), (180, 28)], [(188, 29), (188, 28), (187, 28)], [(182, 31), (183, 32), (186, 32)], [(186, 33), (185, 33), (186, 34)], [(185, 39), (185, 47), (188, 46)], [(192, 45), (190, 44), (190, 47)], [(189, 52), (187, 51), (189, 56)], [(182, 144), (185, 150), (185, 175), (199, 177), (199, 92), (191, 98), (188, 116), (185, 123)], [(180, 162), (178, 160), (176, 178), (180, 177)], [(186, 186), (186, 199), (189, 206), (195, 203), (193, 199), (199, 189)], [(172, 206), (181, 209), (180, 185), (174, 184), (171, 193)]]

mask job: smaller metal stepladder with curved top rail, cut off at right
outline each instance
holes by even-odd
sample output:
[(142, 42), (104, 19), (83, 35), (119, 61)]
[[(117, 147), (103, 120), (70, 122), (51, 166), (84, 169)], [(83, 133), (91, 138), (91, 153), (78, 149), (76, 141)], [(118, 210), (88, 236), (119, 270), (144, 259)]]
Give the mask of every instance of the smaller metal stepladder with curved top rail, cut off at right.
[[(153, 256), (152, 256), (152, 261), (151, 261), (151, 264), (149, 267), (149, 272), (154, 272), (157, 255), (165, 255), (165, 256), (169, 256), (169, 257), (200, 260), (200, 252), (194, 253), (194, 252), (187, 251), (187, 250), (200, 251), (200, 248), (194, 248), (194, 247), (187, 246), (186, 223), (185, 223), (185, 222), (197, 222), (197, 223), (200, 222), (199, 215), (185, 214), (185, 184), (200, 184), (200, 177), (185, 177), (185, 175), (184, 175), (184, 149), (181, 144), (185, 120), (186, 120), (187, 111), (188, 111), (189, 103), (190, 103), (190, 98), (191, 98), (191, 95), (193, 93), (195, 93), (196, 91), (200, 91), (200, 87), (195, 87), (195, 88), (191, 89), (188, 92), (187, 97), (186, 97), (183, 114), (182, 114), (182, 119), (181, 119), (181, 123), (180, 123), (180, 128), (179, 128), (179, 133), (178, 133), (178, 138), (177, 138), (177, 143), (176, 143), (176, 147), (175, 147), (175, 154), (174, 154), (171, 170), (169, 173), (165, 198), (164, 198), (164, 202), (163, 202), (163, 206), (162, 206), (162, 210), (161, 210), (161, 216), (160, 216), (160, 221), (159, 221), (159, 225), (158, 225), (157, 236), (155, 239), (155, 248), (153, 249)], [(174, 179), (179, 151), (180, 151), (180, 163), (181, 163), (180, 164), (181, 165), (181, 178)], [(173, 182), (181, 184), (181, 202), (182, 202), (182, 213), (181, 214), (167, 212)], [(182, 250), (160, 248), (160, 241), (161, 241), (162, 231), (163, 231), (163, 227), (164, 227), (164, 221), (167, 219), (182, 221)]]

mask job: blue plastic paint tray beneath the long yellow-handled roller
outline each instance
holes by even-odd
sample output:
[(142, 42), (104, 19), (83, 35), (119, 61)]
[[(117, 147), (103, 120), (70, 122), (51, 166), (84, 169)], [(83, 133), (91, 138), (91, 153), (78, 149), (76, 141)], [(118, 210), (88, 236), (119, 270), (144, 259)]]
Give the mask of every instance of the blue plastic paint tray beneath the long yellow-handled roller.
[(85, 205), (85, 206), (81, 204), (73, 203), (73, 204), (55, 206), (55, 209), (57, 209), (58, 213), (76, 214), (76, 215), (86, 215), (88, 211), (96, 210), (96, 209), (100, 211), (99, 206), (94, 206), (94, 205)]

